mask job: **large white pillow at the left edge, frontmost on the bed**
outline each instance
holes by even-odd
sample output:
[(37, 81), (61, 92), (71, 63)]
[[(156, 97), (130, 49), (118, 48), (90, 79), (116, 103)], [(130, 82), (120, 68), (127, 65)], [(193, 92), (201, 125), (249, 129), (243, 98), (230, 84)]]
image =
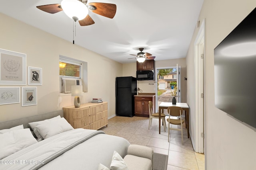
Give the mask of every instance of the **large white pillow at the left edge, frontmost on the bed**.
[(0, 134), (0, 160), (37, 143), (30, 129), (18, 129)]

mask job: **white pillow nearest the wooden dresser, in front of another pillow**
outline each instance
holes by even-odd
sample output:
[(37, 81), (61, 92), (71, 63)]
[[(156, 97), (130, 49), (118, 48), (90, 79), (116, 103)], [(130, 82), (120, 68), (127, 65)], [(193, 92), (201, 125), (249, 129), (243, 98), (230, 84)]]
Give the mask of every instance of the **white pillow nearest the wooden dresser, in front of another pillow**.
[(35, 128), (44, 139), (74, 129), (64, 117), (37, 125)]

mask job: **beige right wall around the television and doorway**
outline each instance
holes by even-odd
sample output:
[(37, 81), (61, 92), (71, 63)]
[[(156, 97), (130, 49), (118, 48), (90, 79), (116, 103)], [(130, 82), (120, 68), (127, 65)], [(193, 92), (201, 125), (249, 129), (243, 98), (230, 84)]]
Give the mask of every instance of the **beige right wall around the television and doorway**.
[[(205, 162), (207, 170), (256, 169), (256, 129), (214, 106), (214, 48), (256, 7), (255, 0), (204, 0), (199, 20), (206, 19), (205, 51)], [(194, 41), (186, 56), (188, 104), (195, 115)], [(192, 118), (192, 117), (191, 117)], [(195, 127), (191, 122), (190, 127)], [(193, 129), (191, 129), (193, 133)]]

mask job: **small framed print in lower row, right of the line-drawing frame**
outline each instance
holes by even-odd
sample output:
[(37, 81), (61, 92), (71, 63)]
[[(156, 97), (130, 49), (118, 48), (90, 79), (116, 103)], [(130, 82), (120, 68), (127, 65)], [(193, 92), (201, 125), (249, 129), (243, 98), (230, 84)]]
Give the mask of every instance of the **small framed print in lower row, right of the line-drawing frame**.
[(37, 104), (37, 87), (22, 87), (22, 106)]

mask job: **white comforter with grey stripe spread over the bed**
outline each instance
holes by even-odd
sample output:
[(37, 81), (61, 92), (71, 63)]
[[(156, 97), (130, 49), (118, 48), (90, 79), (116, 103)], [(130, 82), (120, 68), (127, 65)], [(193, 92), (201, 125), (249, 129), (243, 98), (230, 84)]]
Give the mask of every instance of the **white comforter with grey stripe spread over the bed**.
[(74, 129), (7, 156), (0, 169), (97, 170), (99, 163), (110, 166), (114, 150), (124, 157), (129, 145), (103, 131)]

